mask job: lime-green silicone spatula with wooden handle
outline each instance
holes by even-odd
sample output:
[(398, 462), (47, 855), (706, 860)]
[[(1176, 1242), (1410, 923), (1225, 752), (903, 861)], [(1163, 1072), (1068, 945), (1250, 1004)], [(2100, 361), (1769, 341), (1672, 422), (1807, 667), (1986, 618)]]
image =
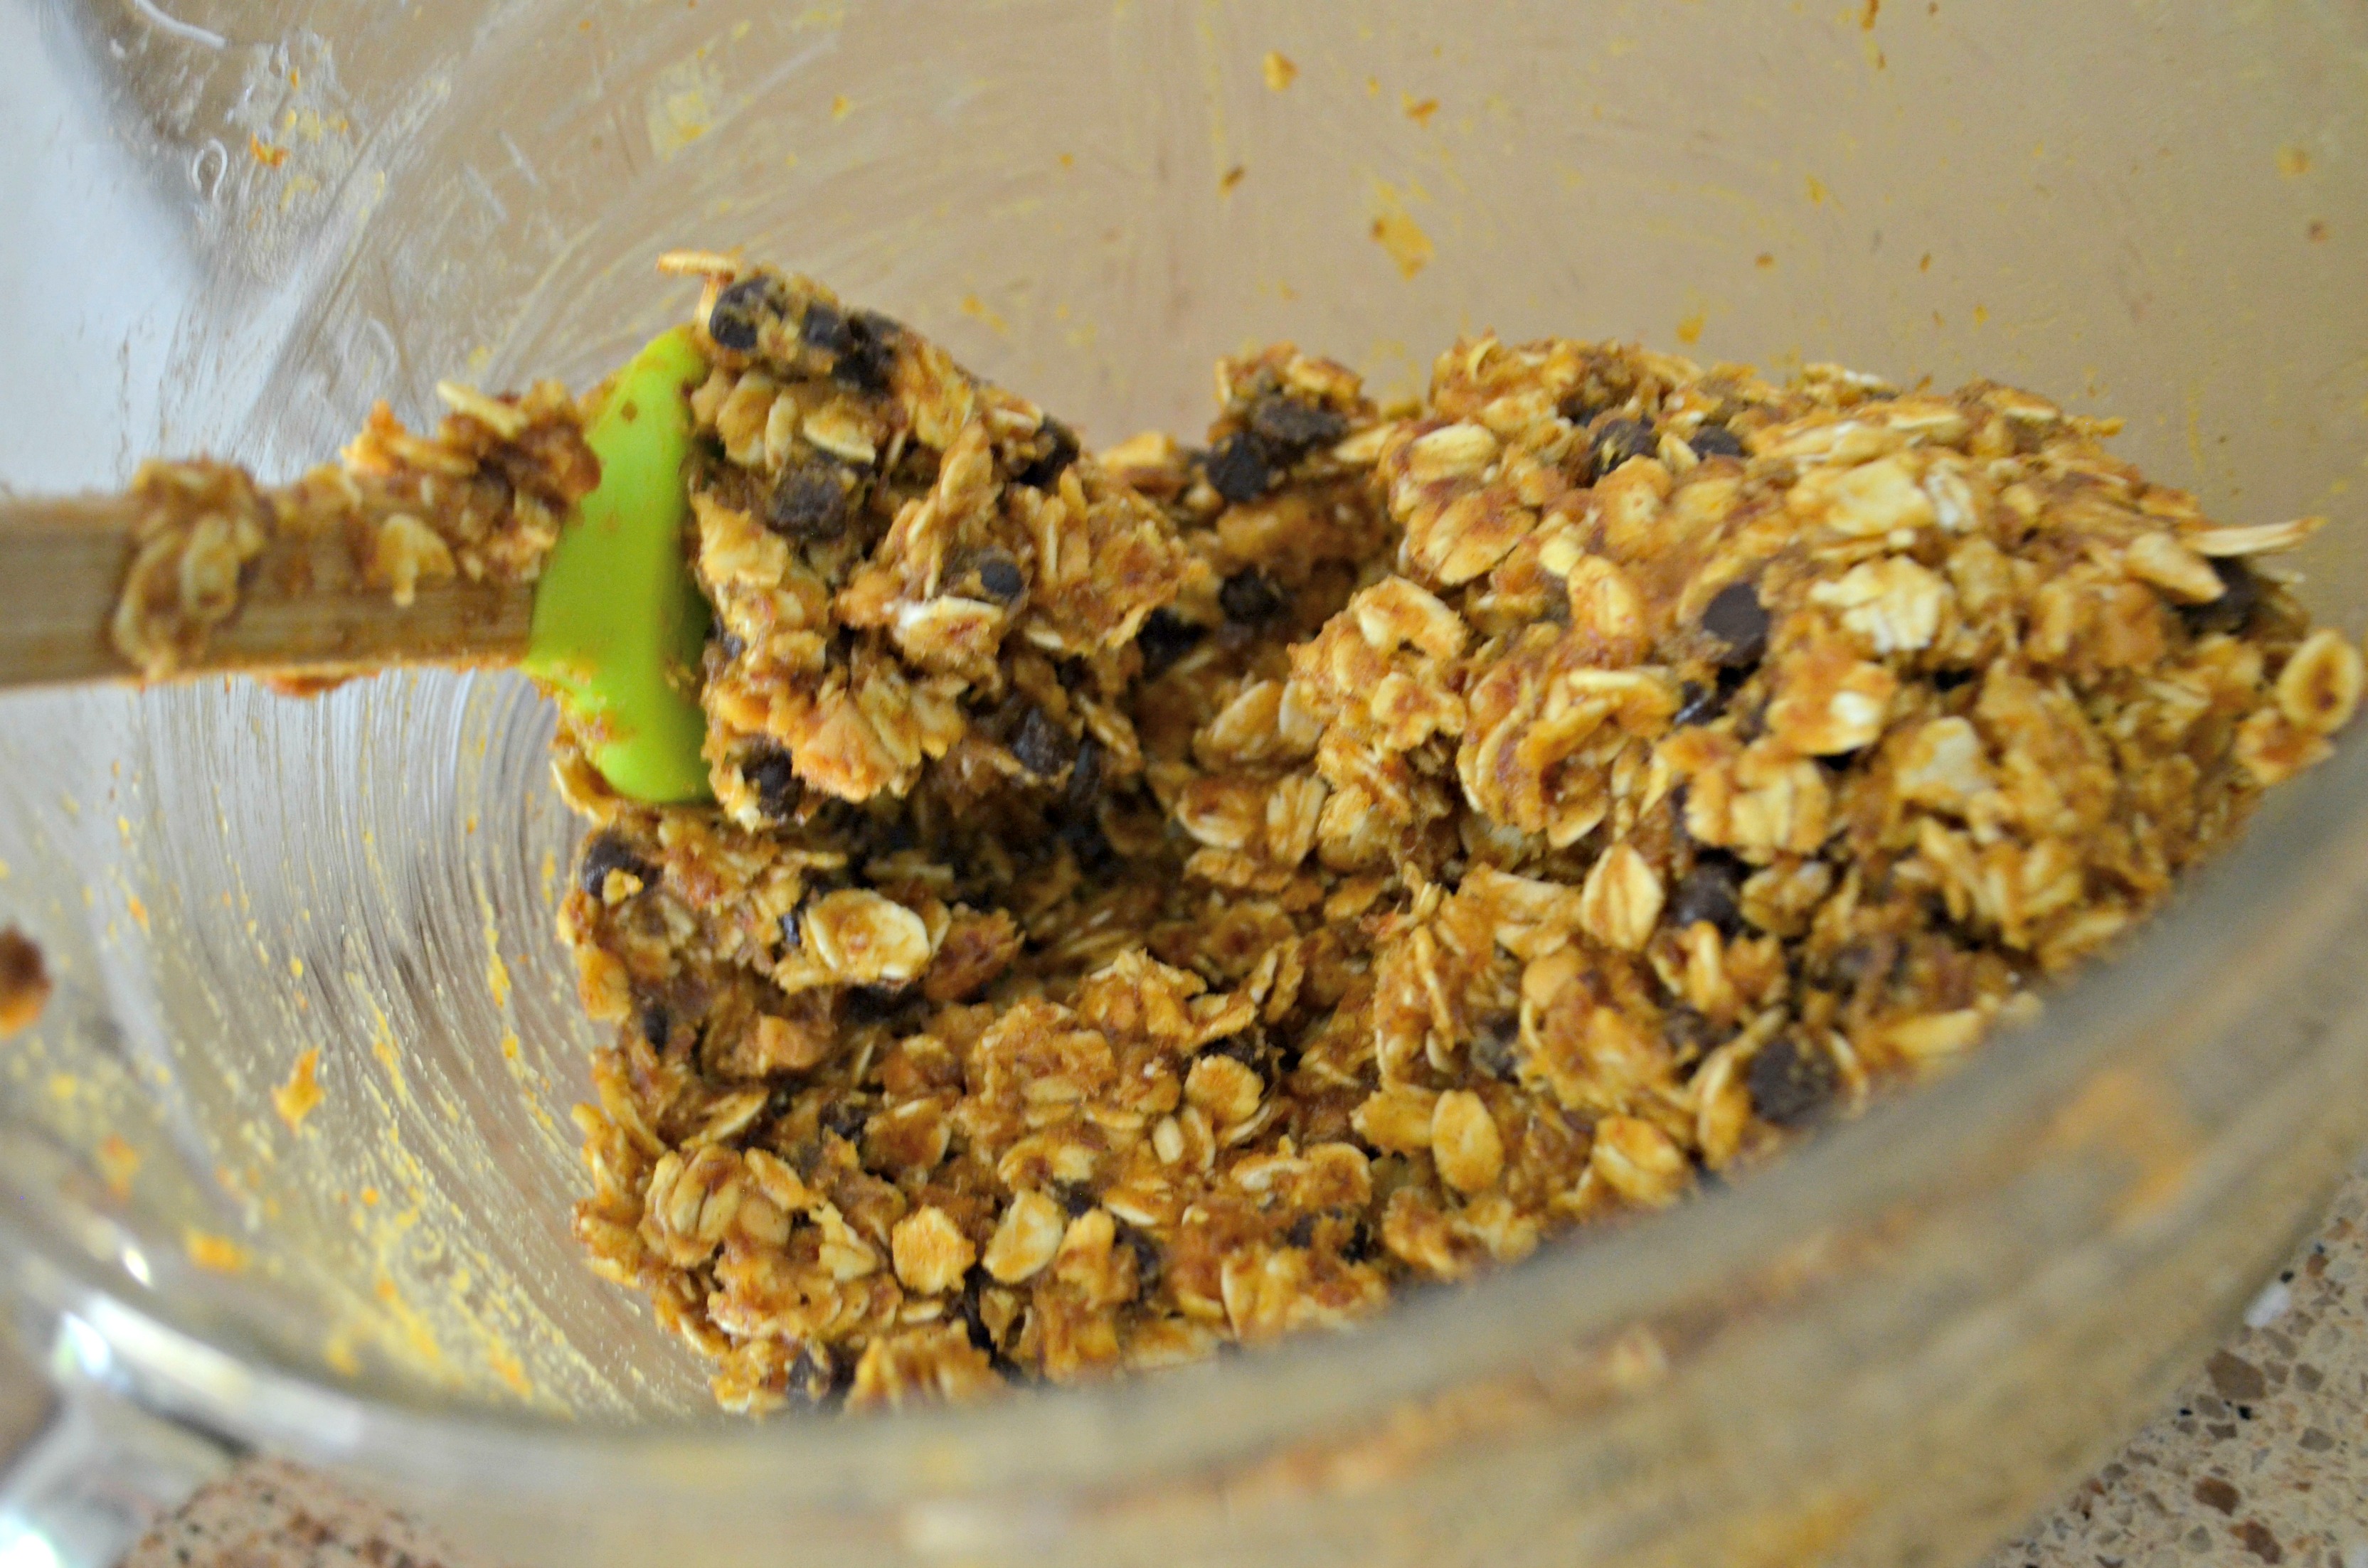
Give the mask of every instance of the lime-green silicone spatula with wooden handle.
[[(706, 360), (687, 327), (654, 339), (587, 400), (583, 443), (599, 481), (566, 516), (535, 583), (429, 576), (403, 604), (372, 554), (388, 519), (422, 509), (419, 488), (317, 476), (253, 490), (244, 509), (126, 495), (0, 495), (0, 689), (76, 680), (178, 680), (206, 673), (282, 687), (414, 663), (516, 663), (568, 711), (609, 784), (635, 801), (699, 801), (699, 647), (708, 604), (684, 552), (689, 391)], [(230, 469), (244, 486), (244, 476)], [(429, 490), (433, 502), (436, 490)], [(135, 658), (121, 621), (128, 585), (161, 535), (282, 519), (249, 559), (230, 559), (223, 618), (170, 654)], [(303, 516), (305, 526), (284, 519)], [(384, 552), (384, 545), (379, 545)], [(220, 552), (215, 552), (220, 554)], [(168, 561), (163, 597), (204, 602), (206, 557)], [(175, 602), (178, 604), (178, 602)]]

